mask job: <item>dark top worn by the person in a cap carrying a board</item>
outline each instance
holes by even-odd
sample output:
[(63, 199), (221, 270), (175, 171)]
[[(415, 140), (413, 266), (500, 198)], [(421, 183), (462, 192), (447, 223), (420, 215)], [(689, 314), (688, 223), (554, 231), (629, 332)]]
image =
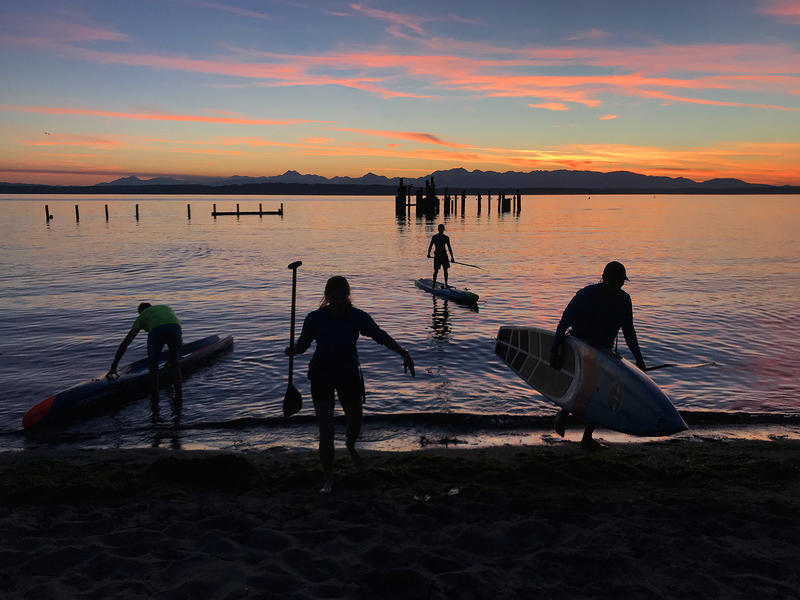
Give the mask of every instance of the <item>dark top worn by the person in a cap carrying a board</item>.
[(607, 350), (614, 347), (617, 332), (622, 328), (628, 348), (637, 361), (642, 360), (633, 328), (631, 297), (621, 289), (609, 293), (602, 283), (595, 283), (579, 290), (564, 309), (551, 352), (558, 351), (569, 327), (575, 337)]

